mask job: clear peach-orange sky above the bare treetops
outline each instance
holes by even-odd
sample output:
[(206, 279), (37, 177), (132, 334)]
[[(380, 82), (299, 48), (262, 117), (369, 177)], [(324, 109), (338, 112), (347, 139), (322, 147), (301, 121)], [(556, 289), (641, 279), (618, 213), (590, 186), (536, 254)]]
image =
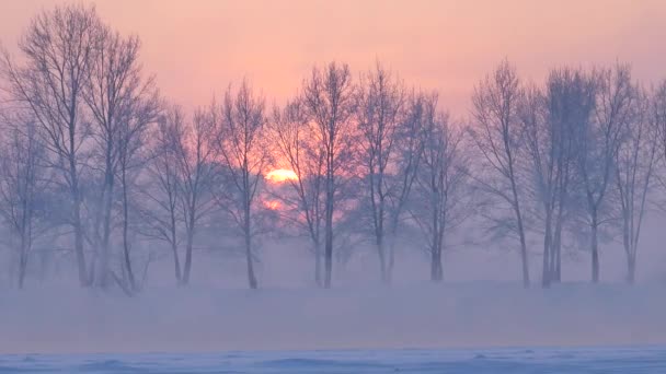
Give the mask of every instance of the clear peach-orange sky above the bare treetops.
[[(0, 2), (10, 49), (36, 11), (56, 0)], [(666, 1), (217, 1), (100, 0), (102, 17), (143, 42), (145, 67), (186, 106), (246, 75), (283, 102), (312, 63), (376, 58), (414, 84), (437, 89), (466, 115), (474, 83), (507, 57), (540, 80), (564, 63), (631, 61), (644, 81), (666, 78)]]

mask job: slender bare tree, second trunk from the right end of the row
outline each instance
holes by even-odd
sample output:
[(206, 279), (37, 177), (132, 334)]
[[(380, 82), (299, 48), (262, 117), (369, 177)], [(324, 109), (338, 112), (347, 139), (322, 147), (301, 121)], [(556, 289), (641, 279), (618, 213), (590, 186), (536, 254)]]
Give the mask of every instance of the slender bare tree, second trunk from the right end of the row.
[(599, 281), (599, 226), (610, 219), (609, 186), (615, 180), (615, 163), (622, 136), (631, 118), (635, 90), (629, 66), (593, 71), (596, 90), (593, 118), (581, 121), (577, 139), (577, 172), (586, 202), (590, 230), (592, 281)]

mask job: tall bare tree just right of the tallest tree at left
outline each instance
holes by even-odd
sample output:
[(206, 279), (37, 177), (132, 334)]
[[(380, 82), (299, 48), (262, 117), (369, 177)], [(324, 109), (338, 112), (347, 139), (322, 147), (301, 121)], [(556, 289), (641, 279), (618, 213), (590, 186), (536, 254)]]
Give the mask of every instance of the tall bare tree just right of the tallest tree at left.
[[(126, 211), (126, 172), (128, 156), (135, 152), (135, 138), (140, 135), (157, 112), (157, 90), (152, 78), (143, 79), (138, 60), (140, 42), (138, 37), (122, 37), (108, 28), (100, 30), (101, 45), (91, 61), (91, 77), (84, 86), (83, 98), (90, 108), (93, 122), (93, 139), (96, 142), (95, 154), (101, 162), (103, 183), (100, 200), (102, 209), (101, 233), (99, 224), (95, 230), (100, 244), (100, 266), (96, 282), (105, 287), (108, 281), (110, 238), (112, 232), (112, 213), (116, 192), (116, 176), (123, 178), (123, 218)], [(122, 166), (122, 173), (119, 172)], [(134, 288), (129, 254), (127, 250), (126, 220), (123, 219), (124, 264)]]

